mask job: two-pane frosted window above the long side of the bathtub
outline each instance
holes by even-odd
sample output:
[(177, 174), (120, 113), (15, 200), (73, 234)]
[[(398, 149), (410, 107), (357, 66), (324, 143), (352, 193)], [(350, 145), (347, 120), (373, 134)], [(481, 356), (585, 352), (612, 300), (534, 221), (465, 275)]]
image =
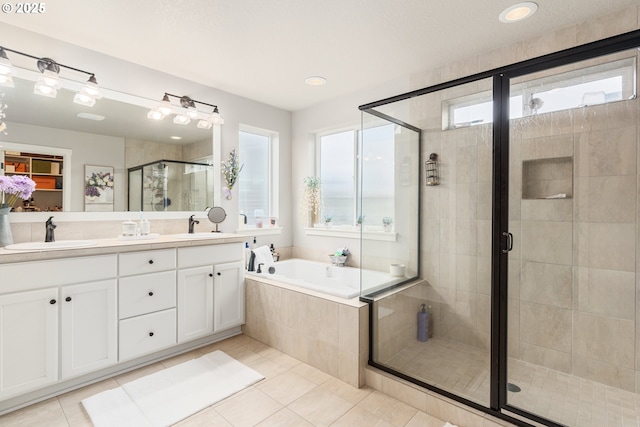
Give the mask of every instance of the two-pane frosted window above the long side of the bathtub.
[[(322, 215), (332, 224), (353, 225), (357, 216), (357, 145), (360, 130), (350, 129), (318, 138)], [(366, 129), (361, 141), (364, 225), (381, 225), (394, 213), (394, 126)]]

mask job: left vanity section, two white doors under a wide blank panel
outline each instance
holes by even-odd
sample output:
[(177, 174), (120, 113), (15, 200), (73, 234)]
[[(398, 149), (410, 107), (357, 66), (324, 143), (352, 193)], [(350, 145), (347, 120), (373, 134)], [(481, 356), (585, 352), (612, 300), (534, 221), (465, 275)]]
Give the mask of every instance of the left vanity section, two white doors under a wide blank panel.
[(117, 362), (116, 275), (115, 255), (0, 264), (0, 398)]

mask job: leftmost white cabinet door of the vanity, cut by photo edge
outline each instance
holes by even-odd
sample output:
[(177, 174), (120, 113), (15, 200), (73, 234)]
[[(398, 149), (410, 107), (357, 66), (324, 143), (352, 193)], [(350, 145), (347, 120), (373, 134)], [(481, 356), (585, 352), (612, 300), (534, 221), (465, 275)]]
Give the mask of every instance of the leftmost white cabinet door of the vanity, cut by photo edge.
[(58, 289), (0, 296), (0, 399), (58, 380)]

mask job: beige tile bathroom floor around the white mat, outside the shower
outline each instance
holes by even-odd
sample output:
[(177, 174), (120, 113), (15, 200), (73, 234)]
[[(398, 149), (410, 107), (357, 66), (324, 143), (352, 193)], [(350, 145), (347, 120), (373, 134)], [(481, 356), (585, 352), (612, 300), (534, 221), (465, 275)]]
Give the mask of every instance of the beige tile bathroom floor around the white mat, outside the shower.
[(368, 387), (354, 388), (246, 335), (89, 385), (0, 417), (1, 426), (91, 426), (82, 399), (222, 350), (262, 373), (259, 383), (177, 424), (207, 426), (441, 427), (444, 421)]

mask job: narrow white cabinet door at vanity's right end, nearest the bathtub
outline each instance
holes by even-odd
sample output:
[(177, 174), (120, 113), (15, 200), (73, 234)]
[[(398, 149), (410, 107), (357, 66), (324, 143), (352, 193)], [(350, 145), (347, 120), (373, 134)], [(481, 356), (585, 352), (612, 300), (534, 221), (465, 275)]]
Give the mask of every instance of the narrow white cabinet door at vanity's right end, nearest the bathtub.
[(244, 323), (244, 266), (241, 261), (213, 267), (214, 332)]

